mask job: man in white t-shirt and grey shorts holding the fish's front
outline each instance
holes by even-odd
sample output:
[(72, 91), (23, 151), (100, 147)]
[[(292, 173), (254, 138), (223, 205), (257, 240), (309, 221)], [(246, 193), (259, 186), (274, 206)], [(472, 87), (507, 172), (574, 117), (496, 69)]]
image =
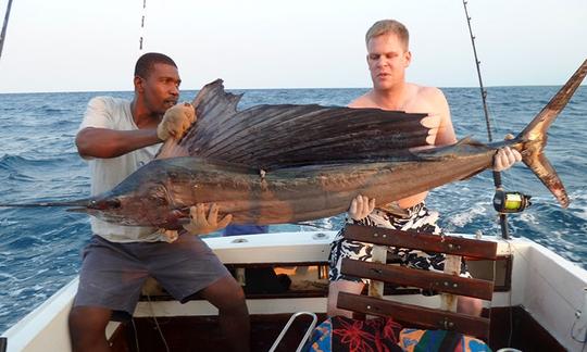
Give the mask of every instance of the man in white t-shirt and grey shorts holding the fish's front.
[[(91, 193), (116, 186), (151, 161), (160, 143), (179, 139), (196, 121), (190, 104), (177, 104), (179, 74), (161, 53), (146, 53), (135, 67), (133, 101), (93, 98), (76, 137), (91, 169)], [(91, 219), (93, 237), (84, 251), (79, 288), (70, 313), (74, 351), (109, 351), (105, 326), (113, 313), (132, 315), (142, 284), (154, 277), (175, 299), (195, 293), (218, 309), (227, 347), (249, 350), (249, 316), (240, 286), (198, 235), (224, 228), (217, 206), (190, 209), (191, 223), (179, 235), (152, 227), (118, 226)]]

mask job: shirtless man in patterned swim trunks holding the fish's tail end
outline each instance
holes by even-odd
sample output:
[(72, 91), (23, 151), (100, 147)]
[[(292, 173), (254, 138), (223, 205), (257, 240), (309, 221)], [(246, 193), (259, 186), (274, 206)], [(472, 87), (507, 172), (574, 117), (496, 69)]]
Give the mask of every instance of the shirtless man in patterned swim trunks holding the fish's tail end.
[[(352, 101), (350, 108), (378, 108), (384, 110), (400, 110), (409, 113), (427, 113), (423, 124), (430, 127), (427, 142), (432, 146), (445, 146), (457, 142), (447, 99), (438, 88), (424, 87), (405, 81), (405, 68), (410, 65), (412, 54), (409, 50), (409, 34), (405, 26), (394, 20), (376, 22), (366, 33), (367, 64), (373, 80), (373, 89)], [(503, 148), (494, 159), (494, 169), (509, 168), (522, 156), (515, 150)], [(408, 215), (399, 217), (383, 209), (375, 209), (375, 200), (358, 196), (351, 203), (347, 222), (364, 226), (378, 226), (397, 229), (412, 229), (439, 234), (436, 225), (438, 213), (428, 211), (424, 200), (427, 191), (410, 196), (398, 201), (398, 205)], [(400, 261), (410, 267), (429, 271), (442, 271), (444, 257), (427, 255), (407, 249), (390, 249)], [(371, 260), (372, 247), (346, 241), (339, 232), (330, 251), (328, 315), (351, 317), (352, 312), (336, 307), (338, 292), (360, 293), (364, 282), (340, 274), (342, 257)], [(441, 254), (437, 254), (441, 255)], [(463, 267), (463, 275), (467, 275)], [(482, 302), (477, 299), (461, 297), (458, 303), (459, 312), (480, 314)]]

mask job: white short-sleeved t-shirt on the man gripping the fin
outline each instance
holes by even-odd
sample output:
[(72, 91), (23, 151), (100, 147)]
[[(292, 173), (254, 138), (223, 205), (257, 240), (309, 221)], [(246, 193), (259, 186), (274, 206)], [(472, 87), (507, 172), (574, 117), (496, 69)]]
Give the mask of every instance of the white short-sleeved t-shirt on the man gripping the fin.
[[(116, 130), (138, 129), (130, 101), (111, 97), (90, 100), (79, 130), (86, 127)], [(111, 190), (137, 168), (150, 162), (160, 144), (145, 147), (112, 159), (88, 158), (91, 174), (91, 196)], [(167, 240), (154, 227), (121, 226), (91, 217), (91, 230), (111, 242), (154, 242)]]

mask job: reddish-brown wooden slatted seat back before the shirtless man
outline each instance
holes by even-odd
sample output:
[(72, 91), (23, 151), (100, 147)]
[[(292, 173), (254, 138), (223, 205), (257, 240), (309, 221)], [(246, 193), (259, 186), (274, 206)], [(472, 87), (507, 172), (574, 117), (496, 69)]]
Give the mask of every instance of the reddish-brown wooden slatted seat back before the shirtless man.
[[(348, 225), (345, 228), (345, 238), (376, 246), (373, 249), (373, 262), (342, 260), (342, 274), (369, 278), (371, 284), (369, 296), (340, 292), (338, 307), (369, 315), (389, 316), (405, 325), (454, 330), (484, 340), (489, 338), (489, 318), (455, 311), (458, 296), (491, 300), (494, 279), (465, 278), (459, 274), (461, 256), (495, 261), (497, 242), (358, 225)], [(387, 265), (385, 256), (388, 246), (445, 253), (445, 273)], [(429, 309), (385, 300), (383, 282), (442, 292), (442, 304), (439, 309)]]

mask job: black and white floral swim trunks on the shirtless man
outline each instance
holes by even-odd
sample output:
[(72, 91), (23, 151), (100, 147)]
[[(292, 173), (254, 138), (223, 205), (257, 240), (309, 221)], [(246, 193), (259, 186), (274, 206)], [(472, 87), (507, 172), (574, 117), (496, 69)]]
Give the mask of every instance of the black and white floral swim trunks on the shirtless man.
[[(347, 219), (347, 224), (357, 224), (363, 226), (374, 226), (383, 228), (391, 228), (399, 230), (416, 230), (420, 232), (428, 232), (441, 235), (440, 227), (436, 224), (438, 212), (429, 211), (424, 203), (419, 203), (412, 208), (405, 209), (404, 215), (398, 215), (387, 212), (382, 209), (375, 209), (367, 217), (360, 222)], [(330, 281), (348, 280), (366, 284), (366, 279), (347, 276), (340, 274), (340, 265), (344, 257), (371, 262), (373, 244), (346, 240), (344, 238), (342, 228), (330, 244), (329, 271), (328, 278)], [(407, 248), (388, 248), (388, 257), (399, 261), (401, 265), (424, 271), (442, 272), (445, 269), (445, 254), (422, 252)], [(469, 277), (466, 266), (461, 265), (461, 276)]]

